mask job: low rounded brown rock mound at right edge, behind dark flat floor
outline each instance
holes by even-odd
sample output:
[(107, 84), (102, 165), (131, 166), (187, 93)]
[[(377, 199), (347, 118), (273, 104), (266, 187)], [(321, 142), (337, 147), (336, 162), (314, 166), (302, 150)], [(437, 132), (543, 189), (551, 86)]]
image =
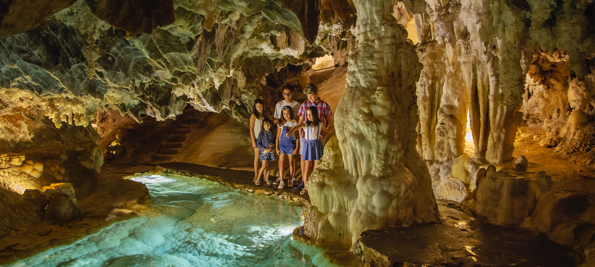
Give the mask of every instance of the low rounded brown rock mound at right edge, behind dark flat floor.
[[(592, 174), (591, 174), (592, 175)], [(593, 178), (480, 169), (462, 208), (497, 225), (529, 228), (565, 246), (585, 248), (595, 234)], [(571, 180), (570, 180), (571, 179)]]

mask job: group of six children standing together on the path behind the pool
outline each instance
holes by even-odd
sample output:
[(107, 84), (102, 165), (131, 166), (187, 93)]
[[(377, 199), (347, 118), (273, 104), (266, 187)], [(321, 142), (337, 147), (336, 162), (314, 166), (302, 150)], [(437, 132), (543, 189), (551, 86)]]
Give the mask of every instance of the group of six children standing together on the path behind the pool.
[[(328, 125), (332, 116), (330, 106), (318, 97), (318, 88), (314, 84), (306, 85), (303, 93), (308, 101), (300, 104), (293, 100), (294, 88), (284, 85), (283, 100), (275, 105), (274, 119), (267, 116), (264, 102), (254, 100), (252, 116), (250, 116), (250, 136), (254, 148), (254, 179), (256, 185), (264, 177), (268, 185), (278, 185), (279, 189), (293, 187), (297, 183), (296, 155), (302, 155), (302, 182), (295, 187), (301, 194), (308, 193), (305, 182), (318, 160), (322, 158), (323, 144), (321, 139), (328, 133)], [(277, 125), (277, 134), (273, 134), (273, 124)], [(299, 131), (299, 134), (298, 134)], [(299, 140), (299, 141), (298, 141)], [(279, 157), (279, 177), (274, 182), (268, 179), (271, 165), (269, 161)], [(285, 163), (289, 161), (289, 175), (285, 177)], [(262, 166), (259, 169), (258, 163)]]

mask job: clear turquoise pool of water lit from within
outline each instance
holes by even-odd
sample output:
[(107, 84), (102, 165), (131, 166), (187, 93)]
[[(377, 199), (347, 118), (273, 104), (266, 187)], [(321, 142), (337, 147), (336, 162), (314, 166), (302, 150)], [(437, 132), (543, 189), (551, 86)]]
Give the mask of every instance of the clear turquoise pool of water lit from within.
[(133, 180), (152, 196), (139, 217), (4, 266), (312, 266), (290, 245), (302, 206), (191, 177)]

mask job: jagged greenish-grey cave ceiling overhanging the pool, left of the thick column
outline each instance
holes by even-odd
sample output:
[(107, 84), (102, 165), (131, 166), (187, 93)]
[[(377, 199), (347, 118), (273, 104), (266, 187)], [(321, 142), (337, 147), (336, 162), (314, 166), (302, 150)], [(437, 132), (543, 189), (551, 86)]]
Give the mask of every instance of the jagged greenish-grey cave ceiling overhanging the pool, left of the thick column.
[[(15, 121), (4, 139), (30, 138), (43, 115), (87, 126), (110, 108), (139, 122), (187, 104), (243, 119), (268, 74), (327, 53), (311, 0), (51, 2), (0, 14), (0, 116)], [(24, 109), (31, 122), (11, 117)]]

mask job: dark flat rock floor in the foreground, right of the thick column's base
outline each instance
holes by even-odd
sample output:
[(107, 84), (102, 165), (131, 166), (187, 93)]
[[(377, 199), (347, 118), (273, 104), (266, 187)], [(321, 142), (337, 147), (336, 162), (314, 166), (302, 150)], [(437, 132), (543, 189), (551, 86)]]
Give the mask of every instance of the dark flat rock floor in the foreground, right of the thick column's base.
[(364, 231), (358, 244), (365, 261), (374, 262), (371, 266), (575, 266), (571, 249), (543, 235), (474, 220), (457, 202), (437, 202), (443, 224)]

